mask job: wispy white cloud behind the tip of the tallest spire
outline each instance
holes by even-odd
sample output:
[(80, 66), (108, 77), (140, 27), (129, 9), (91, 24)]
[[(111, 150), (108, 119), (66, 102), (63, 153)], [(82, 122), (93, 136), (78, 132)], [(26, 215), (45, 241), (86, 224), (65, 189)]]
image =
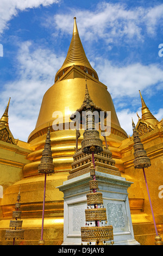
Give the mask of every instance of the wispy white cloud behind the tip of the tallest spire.
[[(72, 33), (72, 17), (77, 17), (82, 40), (118, 43), (124, 37), (127, 40), (143, 41), (145, 34), (153, 35), (156, 26), (161, 26), (163, 4), (153, 8), (135, 7), (128, 9), (125, 4), (101, 2), (93, 10), (71, 9), (65, 14), (57, 14), (47, 19), (62, 33)], [(47, 26), (47, 24), (46, 24)]]

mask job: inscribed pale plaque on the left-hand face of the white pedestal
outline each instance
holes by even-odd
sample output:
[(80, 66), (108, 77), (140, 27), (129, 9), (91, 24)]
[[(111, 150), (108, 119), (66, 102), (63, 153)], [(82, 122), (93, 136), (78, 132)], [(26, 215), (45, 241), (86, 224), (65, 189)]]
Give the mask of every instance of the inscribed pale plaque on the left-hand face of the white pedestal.
[(85, 227), (85, 209), (86, 204), (69, 205), (69, 234), (80, 234), (80, 228)]

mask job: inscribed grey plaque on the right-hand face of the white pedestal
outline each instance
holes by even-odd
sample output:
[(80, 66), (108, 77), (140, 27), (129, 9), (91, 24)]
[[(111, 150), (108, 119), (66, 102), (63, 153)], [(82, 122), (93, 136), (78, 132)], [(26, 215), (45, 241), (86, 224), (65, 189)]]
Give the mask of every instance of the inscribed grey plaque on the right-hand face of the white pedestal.
[(110, 201), (106, 204), (108, 223), (114, 232), (128, 231), (127, 211), (125, 202)]

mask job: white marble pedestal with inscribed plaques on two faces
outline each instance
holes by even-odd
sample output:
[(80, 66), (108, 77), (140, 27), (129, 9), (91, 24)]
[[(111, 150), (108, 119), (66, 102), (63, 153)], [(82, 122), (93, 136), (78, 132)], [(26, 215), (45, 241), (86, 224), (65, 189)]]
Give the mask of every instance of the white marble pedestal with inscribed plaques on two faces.
[[(113, 226), (115, 245), (140, 245), (134, 239), (127, 189), (132, 182), (120, 176), (96, 172), (99, 192), (103, 194), (108, 225)], [(63, 182), (59, 190), (64, 193), (64, 242), (62, 245), (81, 245), (80, 228), (85, 227), (86, 194), (90, 173)], [(83, 243), (84, 244), (84, 243)], [(92, 243), (93, 245), (93, 243)]]

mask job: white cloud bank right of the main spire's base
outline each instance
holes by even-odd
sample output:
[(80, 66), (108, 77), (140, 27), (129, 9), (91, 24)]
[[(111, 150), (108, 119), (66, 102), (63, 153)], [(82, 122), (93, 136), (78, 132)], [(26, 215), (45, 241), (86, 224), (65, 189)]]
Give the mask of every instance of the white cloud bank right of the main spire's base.
[(150, 87), (154, 89), (152, 87), (155, 84), (163, 82), (163, 70), (156, 64), (135, 63), (119, 67), (112, 65), (106, 59), (98, 58), (96, 62), (95, 70), (100, 74), (99, 80), (108, 86), (113, 98), (120, 96), (134, 97), (139, 90)]

